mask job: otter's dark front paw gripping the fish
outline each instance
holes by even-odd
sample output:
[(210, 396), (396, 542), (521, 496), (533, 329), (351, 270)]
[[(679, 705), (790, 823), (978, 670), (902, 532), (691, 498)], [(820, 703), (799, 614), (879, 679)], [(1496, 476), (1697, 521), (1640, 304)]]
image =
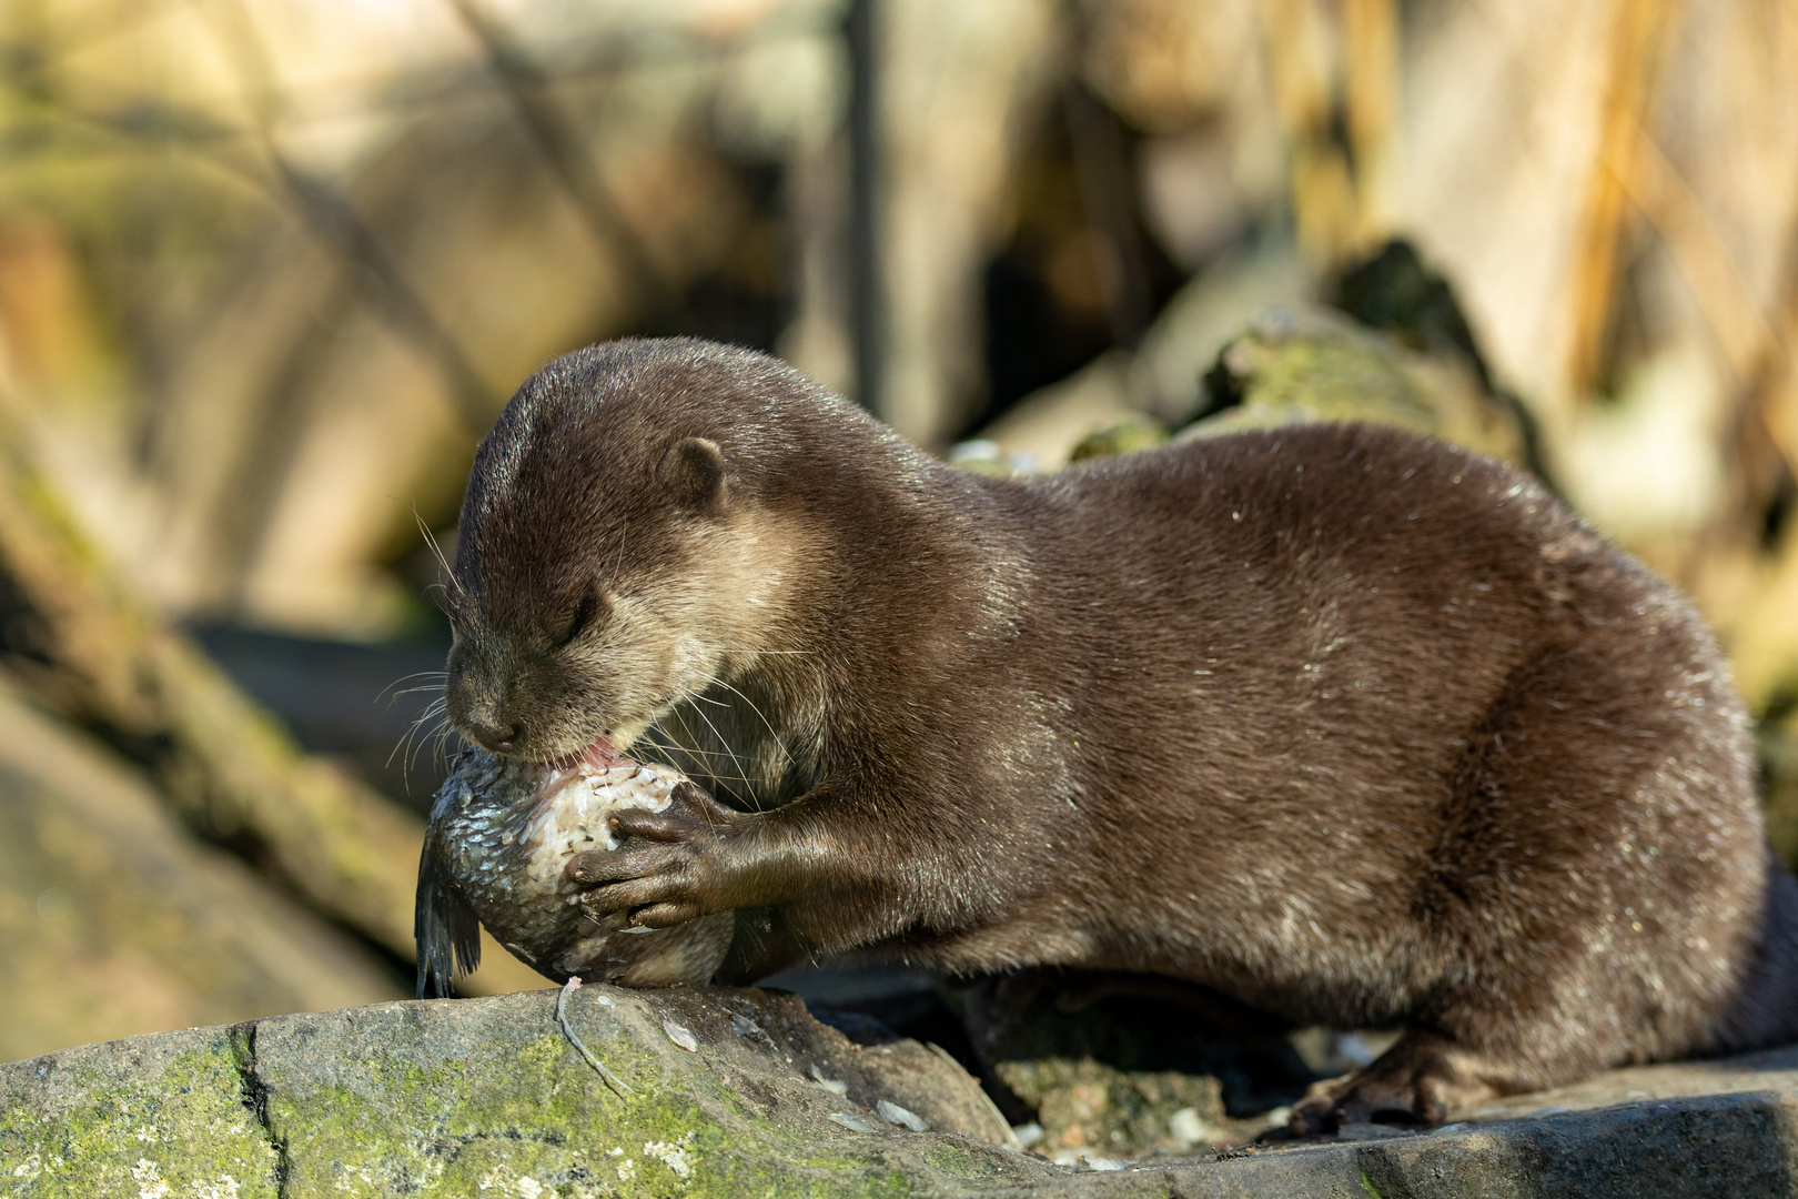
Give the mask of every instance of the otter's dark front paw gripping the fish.
[(723, 911), (728, 850), (750, 816), (725, 807), (690, 782), (674, 787), (660, 813), (613, 813), (615, 850), (568, 859), (568, 877), (593, 890), (581, 906), (593, 917), (629, 911), (631, 924), (667, 928)]

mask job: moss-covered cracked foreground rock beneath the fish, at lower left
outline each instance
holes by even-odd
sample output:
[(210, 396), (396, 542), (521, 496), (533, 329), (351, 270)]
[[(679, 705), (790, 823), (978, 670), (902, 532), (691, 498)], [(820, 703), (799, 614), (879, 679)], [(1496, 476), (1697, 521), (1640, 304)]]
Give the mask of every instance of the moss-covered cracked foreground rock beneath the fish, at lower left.
[(556, 998), (280, 1016), (4, 1066), (0, 1190), (903, 1194), (1052, 1172), (994, 1145), (1010, 1129), (953, 1061), (858, 1046), (797, 996), (577, 990), (570, 1025), (629, 1095), (563, 1037)]

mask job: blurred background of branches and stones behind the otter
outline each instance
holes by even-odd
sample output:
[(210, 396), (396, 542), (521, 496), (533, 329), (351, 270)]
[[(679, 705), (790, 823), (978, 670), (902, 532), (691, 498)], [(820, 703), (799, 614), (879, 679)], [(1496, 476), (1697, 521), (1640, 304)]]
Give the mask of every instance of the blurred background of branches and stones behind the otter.
[(1791, 0), (5, 0), (0, 1061), (410, 994), (435, 550), (631, 333), (969, 469), (1510, 457), (1719, 629), (1798, 856)]

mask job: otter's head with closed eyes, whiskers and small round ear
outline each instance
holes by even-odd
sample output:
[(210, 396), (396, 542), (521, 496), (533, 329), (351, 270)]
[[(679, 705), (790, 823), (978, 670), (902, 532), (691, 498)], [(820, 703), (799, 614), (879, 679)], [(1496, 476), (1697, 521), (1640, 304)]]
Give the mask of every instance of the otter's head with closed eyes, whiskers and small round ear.
[(775, 408), (836, 403), (773, 360), (617, 342), (529, 379), (475, 455), (446, 606), (469, 741), (610, 759), (770, 645), (804, 532), (762, 480)]

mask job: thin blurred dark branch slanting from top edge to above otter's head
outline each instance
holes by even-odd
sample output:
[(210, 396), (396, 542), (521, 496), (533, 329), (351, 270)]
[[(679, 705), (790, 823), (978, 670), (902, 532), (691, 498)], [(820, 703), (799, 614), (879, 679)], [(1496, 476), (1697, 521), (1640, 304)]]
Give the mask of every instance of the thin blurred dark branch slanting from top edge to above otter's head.
[(656, 270), (647, 246), (631, 228), (601, 173), (593, 169), (581, 138), (552, 102), (550, 77), (498, 22), (480, 9), (476, 0), (448, 0), (448, 4), (487, 52), (487, 63), (500, 88), (518, 110), (518, 119), (543, 153), (556, 182), (586, 221), (588, 232), (601, 246), (610, 246), (619, 255), (642, 304), (642, 324), (654, 324), (656, 318), (672, 313), (680, 297)]

